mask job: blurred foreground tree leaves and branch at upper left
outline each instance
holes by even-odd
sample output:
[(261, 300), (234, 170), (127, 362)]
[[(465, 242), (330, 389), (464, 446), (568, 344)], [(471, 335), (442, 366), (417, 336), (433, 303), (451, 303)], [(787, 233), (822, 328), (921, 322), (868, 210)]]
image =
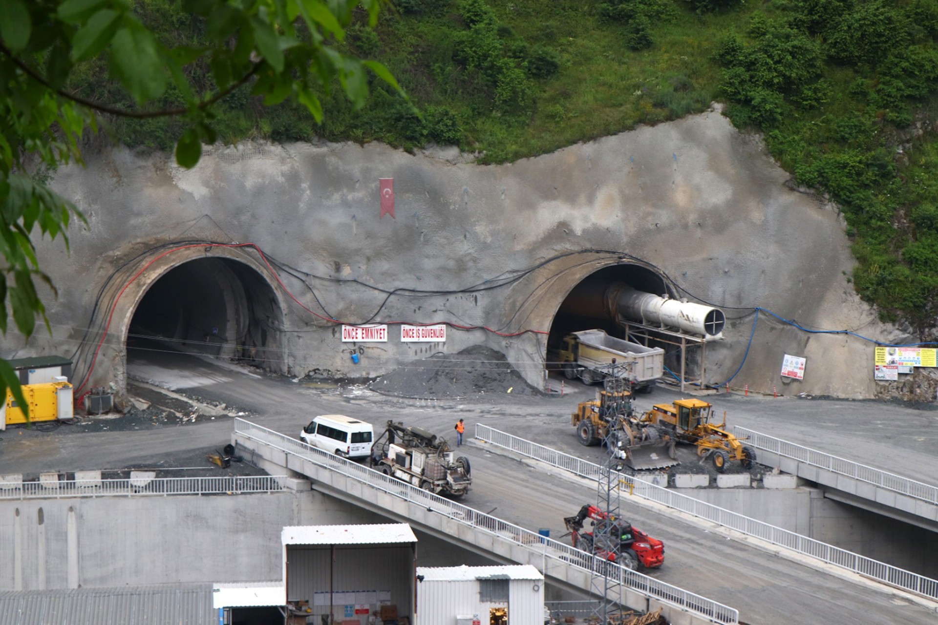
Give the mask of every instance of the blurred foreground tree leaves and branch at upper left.
[[(285, 101), (323, 120), (319, 94), (332, 82), (354, 107), (369, 96), (371, 76), (397, 89), (387, 68), (344, 52), (340, 44), (362, 11), (371, 25), (379, 0), (4, 0), (0, 17), (0, 332), (12, 317), (32, 335), (45, 320), (35, 281), (42, 273), (34, 236), (61, 237), (82, 219), (75, 206), (46, 186), (57, 166), (81, 163), (86, 128), (97, 116), (181, 120), (176, 161), (192, 167), (203, 143), (218, 138), (219, 102), (248, 90), (265, 105)], [(154, 27), (154, 23), (157, 27)], [(160, 29), (164, 29), (161, 31)], [(165, 29), (197, 31), (171, 41)], [(360, 40), (366, 40), (362, 33)], [(373, 51), (372, 51), (373, 52)], [(105, 67), (106, 96), (80, 96), (85, 72)], [(197, 80), (193, 80), (193, 79)], [(164, 108), (167, 103), (174, 106)], [(48, 320), (46, 320), (48, 325)], [(19, 383), (0, 361), (0, 397)]]

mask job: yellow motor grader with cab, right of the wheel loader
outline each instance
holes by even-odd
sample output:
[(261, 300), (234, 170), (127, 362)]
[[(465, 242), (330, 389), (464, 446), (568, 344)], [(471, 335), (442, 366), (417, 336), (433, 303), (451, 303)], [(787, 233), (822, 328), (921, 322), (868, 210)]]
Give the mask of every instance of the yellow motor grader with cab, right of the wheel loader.
[(673, 404), (655, 404), (643, 414), (641, 422), (658, 427), (662, 436), (697, 445), (697, 454), (701, 457), (709, 454), (714, 469), (720, 473), (730, 460), (738, 460), (743, 469), (751, 469), (755, 450), (724, 429), (725, 412), (719, 425), (710, 423), (712, 416), (713, 406), (701, 399), (677, 399)]

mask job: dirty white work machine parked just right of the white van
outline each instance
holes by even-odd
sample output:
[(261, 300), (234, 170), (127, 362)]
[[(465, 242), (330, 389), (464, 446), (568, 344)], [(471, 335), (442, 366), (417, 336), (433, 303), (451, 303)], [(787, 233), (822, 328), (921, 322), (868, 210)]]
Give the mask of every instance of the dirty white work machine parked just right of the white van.
[(371, 447), (371, 468), (437, 495), (460, 498), (472, 485), (469, 458), (453, 457), (446, 439), (388, 421)]

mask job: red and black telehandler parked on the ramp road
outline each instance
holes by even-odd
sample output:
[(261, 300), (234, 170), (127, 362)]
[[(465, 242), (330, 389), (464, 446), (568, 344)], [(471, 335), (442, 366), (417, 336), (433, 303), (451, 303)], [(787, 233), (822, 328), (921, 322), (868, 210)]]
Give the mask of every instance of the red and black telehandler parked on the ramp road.
[[(583, 521), (593, 519), (593, 531), (582, 531)], [(628, 569), (641, 564), (646, 569), (658, 569), (664, 564), (664, 543), (652, 538), (628, 521), (616, 518), (597, 506), (584, 504), (580, 512), (564, 518), (573, 546), (602, 559), (618, 562)], [(598, 541), (594, 534), (609, 531), (610, 541)]]

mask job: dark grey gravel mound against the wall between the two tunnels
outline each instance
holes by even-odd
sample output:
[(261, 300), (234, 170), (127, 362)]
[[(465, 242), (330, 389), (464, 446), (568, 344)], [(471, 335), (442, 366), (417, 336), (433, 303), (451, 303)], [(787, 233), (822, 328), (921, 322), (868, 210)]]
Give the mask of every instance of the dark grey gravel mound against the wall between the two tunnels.
[(540, 394), (528, 384), (505, 355), (473, 346), (456, 354), (441, 354), (401, 366), (371, 382), (381, 394), (416, 399), (454, 399), (480, 394)]

